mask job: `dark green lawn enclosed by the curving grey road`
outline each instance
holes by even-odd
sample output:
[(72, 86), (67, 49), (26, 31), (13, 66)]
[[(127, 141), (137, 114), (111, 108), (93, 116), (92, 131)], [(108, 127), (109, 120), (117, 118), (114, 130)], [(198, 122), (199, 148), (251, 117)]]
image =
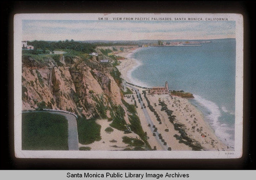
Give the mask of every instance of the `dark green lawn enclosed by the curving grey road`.
[(47, 112), (22, 114), (23, 150), (69, 150), (68, 121)]

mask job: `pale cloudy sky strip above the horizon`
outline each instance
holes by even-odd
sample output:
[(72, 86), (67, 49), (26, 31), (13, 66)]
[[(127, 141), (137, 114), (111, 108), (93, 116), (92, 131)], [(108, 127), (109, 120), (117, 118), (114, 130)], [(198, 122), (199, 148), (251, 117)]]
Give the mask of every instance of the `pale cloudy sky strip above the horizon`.
[(175, 40), (236, 38), (235, 21), (23, 20), (23, 40)]

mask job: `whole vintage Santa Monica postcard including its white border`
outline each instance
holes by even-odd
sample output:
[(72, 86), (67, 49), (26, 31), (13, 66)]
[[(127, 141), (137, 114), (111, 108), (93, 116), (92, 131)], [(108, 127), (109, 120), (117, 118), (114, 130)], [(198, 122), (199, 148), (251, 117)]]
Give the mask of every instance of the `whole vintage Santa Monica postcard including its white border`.
[(16, 14), (17, 158), (243, 155), (240, 14)]

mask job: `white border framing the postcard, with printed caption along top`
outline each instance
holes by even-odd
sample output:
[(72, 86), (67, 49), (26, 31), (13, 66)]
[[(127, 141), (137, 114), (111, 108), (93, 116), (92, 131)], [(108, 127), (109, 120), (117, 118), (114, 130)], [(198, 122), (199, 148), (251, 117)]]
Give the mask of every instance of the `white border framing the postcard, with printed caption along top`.
[[(236, 124), (234, 151), (33, 151), (22, 150), (22, 20), (97, 20), (99, 17), (225, 17), (236, 21)], [(14, 148), (16, 158), (77, 159), (232, 159), (243, 147), (243, 16), (241, 14), (16, 14), (14, 16)]]

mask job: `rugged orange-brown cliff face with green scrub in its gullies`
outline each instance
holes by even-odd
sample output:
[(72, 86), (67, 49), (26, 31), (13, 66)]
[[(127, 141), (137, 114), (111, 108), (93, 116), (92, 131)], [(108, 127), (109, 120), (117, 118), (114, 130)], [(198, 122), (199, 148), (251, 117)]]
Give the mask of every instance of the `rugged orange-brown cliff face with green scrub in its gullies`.
[(101, 117), (101, 108), (109, 117), (112, 105), (123, 107), (111, 64), (63, 55), (23, 57), (22, 62), (23, 110), (48, 108), (91, 118)]

